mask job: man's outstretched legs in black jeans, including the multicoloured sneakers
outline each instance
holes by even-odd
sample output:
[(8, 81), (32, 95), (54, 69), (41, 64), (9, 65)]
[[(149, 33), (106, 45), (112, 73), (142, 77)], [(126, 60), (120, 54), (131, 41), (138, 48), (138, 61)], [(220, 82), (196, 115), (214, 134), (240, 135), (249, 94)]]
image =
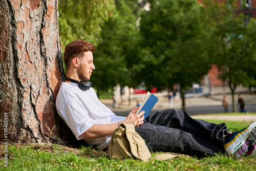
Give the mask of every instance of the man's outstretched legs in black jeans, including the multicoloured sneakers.
[(173, 109), (151, 114), (136, 131), (146, 141), (149, 149), (197, 157), (205, 153), (214, 155), (227, 152), (241, 158), (247, 154), (251, 145), (256, 145), (256, 122), (224, 139), (227, 134), (225, 123), (193, 119), (186, 112)]

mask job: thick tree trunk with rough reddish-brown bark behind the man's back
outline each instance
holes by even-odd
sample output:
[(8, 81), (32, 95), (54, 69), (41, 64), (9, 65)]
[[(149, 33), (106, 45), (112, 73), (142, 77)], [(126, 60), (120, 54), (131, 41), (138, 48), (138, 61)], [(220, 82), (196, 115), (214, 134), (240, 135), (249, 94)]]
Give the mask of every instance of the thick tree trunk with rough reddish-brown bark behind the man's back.
[[(1, 139), (44, 142), (59, 135), (55, 100), (63, 78), (58, 1), (0, 2)], [(62, 126), (62, 125), (61, 125)], [(4, 129), (8, 128), (8, 136)]]

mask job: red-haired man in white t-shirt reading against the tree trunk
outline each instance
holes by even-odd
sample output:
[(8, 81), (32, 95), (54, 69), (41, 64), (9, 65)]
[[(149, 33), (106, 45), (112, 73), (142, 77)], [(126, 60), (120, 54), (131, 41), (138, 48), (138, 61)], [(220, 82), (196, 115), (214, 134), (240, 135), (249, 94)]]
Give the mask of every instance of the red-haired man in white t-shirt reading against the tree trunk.
[(229, 133), (225, 123), (193, 119), (186, 112), (175, 109), (158, 111), (144, 118), (144, 112), (135, 116), (138, 107), (127, 117), (116, 116), (99, 101), (88, 82), (95, 69), (94, 50), (95, 47), (84, 40), (74, 40), (65, 48), (67, 77), (59, 89), (56, 108), (78, 140), (98, 149), (108, 149), (111, 135), (120, 123), (136, 121), (135, 130), (150, 151), (197, 157), (216, 153), (236, 158), (256, 157), (256, 122)]

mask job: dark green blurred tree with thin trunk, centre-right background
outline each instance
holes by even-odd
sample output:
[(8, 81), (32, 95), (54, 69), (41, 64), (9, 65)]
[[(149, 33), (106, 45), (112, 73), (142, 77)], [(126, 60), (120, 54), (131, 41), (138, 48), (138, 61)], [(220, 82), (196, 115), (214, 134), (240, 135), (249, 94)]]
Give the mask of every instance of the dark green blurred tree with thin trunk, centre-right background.
[(210, 36), (206, 18), (196, 0), (157, 1), (141, 17), (141, 45), (153, 55), (140, 73), (146, 84), (159, 89), (179, 83), (182, 110), (184, 92), (192, 83), (200, 83), (209, 70), (207, 51)]

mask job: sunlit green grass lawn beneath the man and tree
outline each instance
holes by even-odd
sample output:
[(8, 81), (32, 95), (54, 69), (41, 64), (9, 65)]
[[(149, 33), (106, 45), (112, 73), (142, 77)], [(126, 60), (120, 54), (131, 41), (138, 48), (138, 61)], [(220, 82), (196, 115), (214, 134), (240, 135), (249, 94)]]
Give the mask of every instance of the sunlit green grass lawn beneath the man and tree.
[[(249, 122), (209, 120), (227, 123), (228, 127), (243, 129)], [(57, 145), (50, 148), (8, 145), (8, 167), (4, 166), (4, 149), (0, 146), (0, 170), (255, 170), (256, 158), (240, 160), (225, 155), (215, 157), (179, 157), (166, 161), (113, 160), (91, 147), (66, 151)], [(159, 153), (152, 153), (152, 157)]]

